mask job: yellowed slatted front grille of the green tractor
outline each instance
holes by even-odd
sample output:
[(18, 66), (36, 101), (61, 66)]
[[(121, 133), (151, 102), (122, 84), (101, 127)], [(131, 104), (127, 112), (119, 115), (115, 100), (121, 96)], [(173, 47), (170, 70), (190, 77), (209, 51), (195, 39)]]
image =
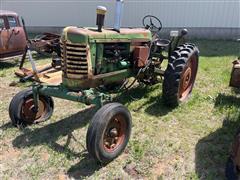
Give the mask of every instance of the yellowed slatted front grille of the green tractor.
[(87, 46), (61, 42), (62, 71), (65, 77), (81, 79), (88, 75)]

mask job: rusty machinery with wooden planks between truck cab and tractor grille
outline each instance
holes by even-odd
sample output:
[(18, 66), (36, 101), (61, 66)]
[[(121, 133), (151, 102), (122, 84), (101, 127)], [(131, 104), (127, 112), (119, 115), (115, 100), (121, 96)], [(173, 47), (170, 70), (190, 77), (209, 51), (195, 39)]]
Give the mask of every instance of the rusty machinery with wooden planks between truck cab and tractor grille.
[[(22, 56), (19, 70), (15, 71), (17, 76), (20, 76), (20, 82), (25, 82), (29, 79), (34, 79), (38, 82), (45, 82), (50, 84), (61, 83), (61, 52), (59, 39), (60, 35), (53, 33), (43, 33), (38, 35), (34, 39), (29, 39), (26, 32), (25, 22), (22, 19), (23, 29), (25, 31), (26, 41), (28, 42)], [(32, 58), (31, 50), (37, 51), (40, 54), (49, 55), (52, 54), (52, 63), (42, 67), (37, 67)], [(28, 55), (32, 65), (32, 70), (24, 68), (26, 56)]]

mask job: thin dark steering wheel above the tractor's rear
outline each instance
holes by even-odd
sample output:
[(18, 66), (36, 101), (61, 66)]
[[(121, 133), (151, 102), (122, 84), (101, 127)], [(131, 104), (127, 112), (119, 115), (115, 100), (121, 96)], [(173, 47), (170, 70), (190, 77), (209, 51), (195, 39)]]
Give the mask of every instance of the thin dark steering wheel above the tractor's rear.
[(149, 29), (153, 33), (157, 33), (162, 29), (162, 22), (156, 16), (147, 15), (143, 18), (142, 23), (146, 29)]

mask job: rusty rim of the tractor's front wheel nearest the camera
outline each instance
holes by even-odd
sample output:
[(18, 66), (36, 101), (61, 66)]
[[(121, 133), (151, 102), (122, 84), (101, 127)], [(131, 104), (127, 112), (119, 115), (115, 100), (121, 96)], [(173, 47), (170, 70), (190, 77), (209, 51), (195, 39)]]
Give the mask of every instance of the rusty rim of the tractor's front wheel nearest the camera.
[(126, 137), (126, 119), (123, 115), (115, 115), (107, 125), (103, 137), (103, 147), (107, 152), (114, 152)]

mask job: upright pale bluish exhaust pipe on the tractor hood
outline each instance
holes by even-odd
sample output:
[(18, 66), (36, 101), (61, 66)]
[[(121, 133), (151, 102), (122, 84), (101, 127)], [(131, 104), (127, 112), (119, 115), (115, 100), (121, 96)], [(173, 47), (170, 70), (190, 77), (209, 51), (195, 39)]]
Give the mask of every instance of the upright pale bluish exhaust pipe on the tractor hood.
[(115, 10), (115, 21), (114, 21), (114, 30), (120, 32), (122, 16), (123, 16), (123, 0), (116, 0), (116, 10)]

